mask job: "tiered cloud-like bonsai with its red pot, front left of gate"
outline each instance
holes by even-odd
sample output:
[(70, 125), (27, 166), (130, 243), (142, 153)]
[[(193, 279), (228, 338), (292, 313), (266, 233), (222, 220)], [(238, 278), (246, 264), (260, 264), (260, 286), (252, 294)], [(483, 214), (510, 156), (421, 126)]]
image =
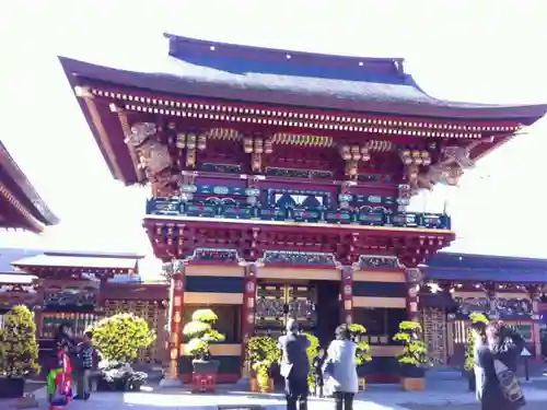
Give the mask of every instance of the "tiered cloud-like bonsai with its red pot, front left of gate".
[(224, 341), (224, 335), (213, 329), (219, 317), (211, 309), (198, 309), (191, 315), (191, 321), (186, 324), (183, 333), (188, 338), (185, 351), (193, 358), (194, 389), (214, 391), (217, 373), (220, 362), (211, 360), (209, 344)]

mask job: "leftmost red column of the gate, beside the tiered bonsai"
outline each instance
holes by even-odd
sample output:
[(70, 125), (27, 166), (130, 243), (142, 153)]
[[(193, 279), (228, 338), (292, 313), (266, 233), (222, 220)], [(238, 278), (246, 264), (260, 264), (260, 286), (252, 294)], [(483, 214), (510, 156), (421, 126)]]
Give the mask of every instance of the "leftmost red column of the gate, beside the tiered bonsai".
[(171, 279), (170, 294), (170, 339), (168, 356), (170, 366), (167, 378), (170, 380), (179, 379), (179, 358), (183, 354), (183, 307), (184, 307), (184, 263), (182, 260), (174, 260), (173, 276)]

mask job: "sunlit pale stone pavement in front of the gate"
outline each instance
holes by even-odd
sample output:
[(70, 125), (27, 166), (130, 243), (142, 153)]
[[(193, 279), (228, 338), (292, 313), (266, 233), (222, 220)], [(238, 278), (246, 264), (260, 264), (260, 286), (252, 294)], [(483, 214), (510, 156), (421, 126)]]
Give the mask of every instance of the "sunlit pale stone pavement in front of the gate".
[[(532, 383), (523, 385), (528, 407), (526, 410), (544, 410), (547, 390)], [(36, 394), (40, 409), (47, 409), (45, 395)], [(221, 405), (221, 407), (219, 407)], [(228, 406), (228, 407), (226, 407)], [(252, 406), (255, 406), (254, 408)], [(333, 409), (331, 399), (312, 399), (311, 410)], [(94, 393), (89, 401), (74, 401), (68, 410), (284, 410), (281, 394), (253, 395), (248, 391), (219, 389), (216, 395), (193, 395), (187, 389), (151, 388), (141, 393)], [(1, 410), (9, 407), (0, 406)], [(459, 379), (428, 378), (428, 389), (421, 393), (401, 391), (398, 385), (369, 386), (358, 395), (354, 410), (478, 410), (475, 395), (466, 390)]]

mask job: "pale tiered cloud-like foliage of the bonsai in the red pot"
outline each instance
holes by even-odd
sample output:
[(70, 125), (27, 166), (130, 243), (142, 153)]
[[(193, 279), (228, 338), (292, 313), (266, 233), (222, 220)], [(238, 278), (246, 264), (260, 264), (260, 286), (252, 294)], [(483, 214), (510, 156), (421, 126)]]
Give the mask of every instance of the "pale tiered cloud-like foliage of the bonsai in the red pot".
[(210, 355), (209, 344), (224, 341), (225, 336), (212, 328), (218, 319), (211, 309), (198, 309), (191, 315), (191, 321), (185, 325), (183, 333), (190, 339), (185, 350), (194, 359), (207, 359)]

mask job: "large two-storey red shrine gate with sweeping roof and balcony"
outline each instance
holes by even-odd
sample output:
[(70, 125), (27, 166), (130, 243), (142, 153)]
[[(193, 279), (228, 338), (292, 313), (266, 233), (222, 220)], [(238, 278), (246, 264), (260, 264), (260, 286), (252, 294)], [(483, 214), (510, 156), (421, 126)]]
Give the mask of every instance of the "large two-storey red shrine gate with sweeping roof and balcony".
[(389, 373), (391, 335), (420, 317), (418, 266), (455, 238), (443, 212), (407, 212), (412, 195), (456, 185), (547, 107), (432, 98), (403, 59), (166, 37), (146, 68), (60, 61), (113, 176), (151, 185), (168, 377), (190, 376), (182, 329), (202, 306), (229, 324), (212, 352), (221, 380), (289, 316), (323, 342), (339, 323), (376, 324), (373, 373)]

